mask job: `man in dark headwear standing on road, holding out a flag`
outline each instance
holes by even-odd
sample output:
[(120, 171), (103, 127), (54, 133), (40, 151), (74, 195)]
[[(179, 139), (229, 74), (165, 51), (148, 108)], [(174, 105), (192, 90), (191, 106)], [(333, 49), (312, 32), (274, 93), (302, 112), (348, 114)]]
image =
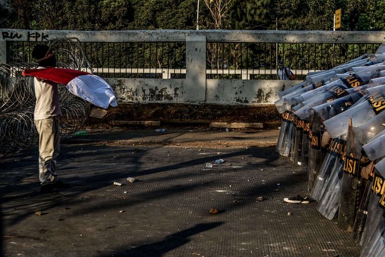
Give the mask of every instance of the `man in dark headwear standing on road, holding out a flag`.
[[(55, 53), (47, 45), (36, 45), (32, 50), (38, 69), (56, 67)], [(22, 75), (25, 76), (24, 70)], [(56, 157), (60, 150), (60, 116), (57, 83), (34, 78), (36, 105), (34, 123), (39, 134), (39, 179), (42, 192), (52, 192), (69, 187), (69, 184), (57, 179)]]

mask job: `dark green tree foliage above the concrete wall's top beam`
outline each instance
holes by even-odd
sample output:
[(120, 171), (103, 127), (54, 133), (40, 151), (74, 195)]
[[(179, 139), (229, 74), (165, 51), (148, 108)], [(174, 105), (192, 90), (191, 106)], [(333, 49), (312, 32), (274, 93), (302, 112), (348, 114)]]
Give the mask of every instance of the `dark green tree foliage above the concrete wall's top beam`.
[[(195, 29), (198, 0), (7, 0), (0, 27), (18, 29)], [(215, 26), (200, 0), (200, 27)], [(228, 0), (222, 0), (227, 3)], [(385, 0), (230, 0), (221, 28), (332, 30), (342, 8), (342, 30), (385, 30)]]

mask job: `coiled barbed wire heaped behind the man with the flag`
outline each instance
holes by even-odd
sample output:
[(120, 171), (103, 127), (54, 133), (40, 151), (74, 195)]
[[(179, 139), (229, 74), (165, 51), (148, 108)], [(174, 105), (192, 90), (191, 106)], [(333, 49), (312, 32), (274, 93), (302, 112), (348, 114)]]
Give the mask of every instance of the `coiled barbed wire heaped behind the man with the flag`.
[[(54, 39), (49, 46), (56, 52), (57, 67), (92, 70), (76, 38)], [(0, 157), (37, 146), (38, 134), (33, 120), (35, 90), (32, 77), (22, 77), (23, 69), (36, 63), (0, 63)], [(59, 84), (61, 139), (80, 130), (90, 112), (90, 104), (72, 95)]]

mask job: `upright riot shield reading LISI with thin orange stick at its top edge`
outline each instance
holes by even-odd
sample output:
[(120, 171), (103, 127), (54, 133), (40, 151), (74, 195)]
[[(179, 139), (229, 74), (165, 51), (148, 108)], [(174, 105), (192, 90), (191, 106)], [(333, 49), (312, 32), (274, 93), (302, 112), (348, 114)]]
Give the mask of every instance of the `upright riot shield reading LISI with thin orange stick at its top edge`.
[(362, 137), (362, 130), (349, 126), (338, 211), (338, 225), (348, 232), (353, 231), (355, 215), (362, 195), (363, 179), (359, 176)]

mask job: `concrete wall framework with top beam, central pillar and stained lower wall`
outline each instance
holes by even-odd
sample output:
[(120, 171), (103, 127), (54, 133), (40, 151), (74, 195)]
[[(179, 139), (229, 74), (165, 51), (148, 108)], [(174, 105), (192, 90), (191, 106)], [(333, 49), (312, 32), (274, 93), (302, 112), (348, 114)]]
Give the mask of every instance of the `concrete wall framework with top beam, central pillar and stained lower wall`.
[(136, 30), (68, 31), (0, 29), (0, 62), (7, 61), (7, 42), (46, 42), (78, 38), (81, 42), (186, 42), (186, 79), (112, 79), (120, 103), (272, 104), (278, 93), (299, 81), (206, 80), (207, 42), (382, 43), (384, 31), (242, 31)]

